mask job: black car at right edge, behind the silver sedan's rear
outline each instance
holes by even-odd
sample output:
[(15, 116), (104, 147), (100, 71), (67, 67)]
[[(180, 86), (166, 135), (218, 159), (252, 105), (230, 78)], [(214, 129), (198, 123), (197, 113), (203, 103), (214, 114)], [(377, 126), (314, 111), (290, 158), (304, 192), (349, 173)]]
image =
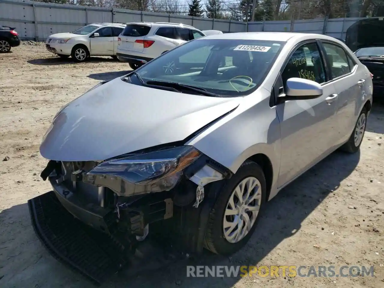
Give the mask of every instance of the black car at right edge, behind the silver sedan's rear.
[[(383, 44), (381, 44), (383, 45)], [(384, 99), (384, 45), (362, 46), (354, 52), (362, 64), (372, 73), (373, 91), (375, 97)]]

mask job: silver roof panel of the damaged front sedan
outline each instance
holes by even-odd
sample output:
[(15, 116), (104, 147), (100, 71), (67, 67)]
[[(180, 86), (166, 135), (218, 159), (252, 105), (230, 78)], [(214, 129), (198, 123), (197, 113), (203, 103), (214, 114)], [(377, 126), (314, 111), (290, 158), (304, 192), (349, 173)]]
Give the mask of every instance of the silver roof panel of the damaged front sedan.
[(207, 39), (236, 39), (236, 40), (270, 40), (270, 41), (284, 41), (289, 40), (306, 40), (306, 39), (324, 39), (334, 40), (335, 38), (315, 33), (295, 33), (295, 32), (236, 32), (236, 33), (224, 33), (208, 35), (196, 40), (207, 40)]

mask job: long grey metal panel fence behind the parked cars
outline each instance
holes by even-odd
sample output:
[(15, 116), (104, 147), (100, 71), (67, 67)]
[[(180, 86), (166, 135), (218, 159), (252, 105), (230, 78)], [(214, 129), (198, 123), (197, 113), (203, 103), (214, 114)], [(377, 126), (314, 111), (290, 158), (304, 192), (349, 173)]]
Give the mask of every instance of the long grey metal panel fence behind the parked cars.
[(295, 21), (238, 22), (233, 20), (132, 11), (78, 5), (63, 5), (27, 0), (0, 0), (0, 25), (16, 27), (20, 38), (45, 41), (54, 33), (74, 31), (96, 22), (135, 21), (173, 22), (192, 25), (200, 30), (228, 32), (293, 31), (319, 33), (345, 38), (349, 26), (362, 18), (319, 18)]

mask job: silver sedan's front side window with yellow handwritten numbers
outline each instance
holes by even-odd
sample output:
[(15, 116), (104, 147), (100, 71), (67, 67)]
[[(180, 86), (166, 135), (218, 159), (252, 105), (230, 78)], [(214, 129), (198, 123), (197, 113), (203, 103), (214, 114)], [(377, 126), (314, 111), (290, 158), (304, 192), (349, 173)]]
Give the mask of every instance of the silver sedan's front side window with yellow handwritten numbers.
[(284, 87), (289, 78), (304, 78), (319, 84), (326, 81), (323, 60), (315, 42), (303, 44), (293, 52), (284, 68), (282, 78)]

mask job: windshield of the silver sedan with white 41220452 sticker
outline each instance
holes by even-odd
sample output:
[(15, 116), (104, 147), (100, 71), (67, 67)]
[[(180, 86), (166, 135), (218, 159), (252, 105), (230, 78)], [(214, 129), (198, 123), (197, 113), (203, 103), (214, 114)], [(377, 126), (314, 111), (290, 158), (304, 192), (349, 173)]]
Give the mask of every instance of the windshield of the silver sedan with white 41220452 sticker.
[[(254, 91), (285, 42), (265, 40), (192, 40), (136, 70), (144, 83), (182, 83), (225, 96)], [(143, 85), (132, 76), (131, 83)]]

